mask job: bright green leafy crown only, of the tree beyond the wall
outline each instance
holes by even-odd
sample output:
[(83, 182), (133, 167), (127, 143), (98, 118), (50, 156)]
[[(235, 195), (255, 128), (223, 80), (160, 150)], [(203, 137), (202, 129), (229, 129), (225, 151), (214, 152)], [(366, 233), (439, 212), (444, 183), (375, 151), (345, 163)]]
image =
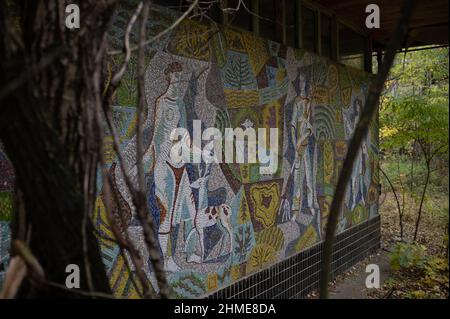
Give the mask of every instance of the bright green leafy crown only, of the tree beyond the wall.
[(448, 150), (448, 48), (399, 55), (381, 100), (381, 149), (411, 150), (413, 141)]

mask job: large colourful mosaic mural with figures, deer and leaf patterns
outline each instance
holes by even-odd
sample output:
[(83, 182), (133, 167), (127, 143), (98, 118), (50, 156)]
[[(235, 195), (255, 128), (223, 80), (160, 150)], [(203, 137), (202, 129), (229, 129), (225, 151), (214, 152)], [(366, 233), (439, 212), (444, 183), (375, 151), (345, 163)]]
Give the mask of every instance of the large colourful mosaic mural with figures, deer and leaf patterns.
[[(129, 13), (116, 17), (111, 41), (117, 46)], [(174, 12), (154, 7), (149, 29), (156, 34), (174, 18)], [(109, 74), (120, 59), (111, 60)], [(136, 74), (133, 57), (114, 96), (114, 122), (133, 181)], [(148, 50), (145, 74), (147, 199), (173, 297), (203, 296), (323, 240), (334, 185), (368, 92), (367, 74), (251, 33), (215, 32), (191, 20)], [(171, 161), (170, 132), (184, 127), (192, 135), (193, 120), (221, 132), (278, 128), (277, 169), (267, 175), (258, 162)], [(374, 122), (353, 170), (339, 232), (378, 213), (377, 136)], [(105, 152), (117, 194), (113, 208), (124, 214), (120, 230), (144, 256), (145, 273), (157, 290), (110, 136)], [(0, 166), (4, 162), (0, 153)], [(7, 263), (11, 178), (0, 174), (1, 267)], [(107, 221), (100, 174), (98, 192), (94, 222), (111, 287), (118, 297), (138, 297), (128, 256), (120, 254)]]

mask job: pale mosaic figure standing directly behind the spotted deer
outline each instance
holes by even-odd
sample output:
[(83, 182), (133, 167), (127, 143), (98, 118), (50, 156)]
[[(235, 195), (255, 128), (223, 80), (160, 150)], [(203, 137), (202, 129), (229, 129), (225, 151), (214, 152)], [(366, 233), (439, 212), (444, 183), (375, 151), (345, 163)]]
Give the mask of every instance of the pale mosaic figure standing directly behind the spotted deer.
[(177, 127), (187, 127), (183, 97), (189, 77), (182, 72), (182, 65), (178, 62), (169, 64), (165, 75), (167, 89), (156, 100), (151, 147), (155, 156), (155, 194), (160, 210), (158, 238), (166, 271), (177, 271), (179, 266), (173, 258), (176, 243), (172, 240), (172, 234), (176, 225), (190, 220), (195, 214), (195, 204), (185, 163), (176, 162), (170, 156), (171, 149), (177, 142), (170, 137)]

